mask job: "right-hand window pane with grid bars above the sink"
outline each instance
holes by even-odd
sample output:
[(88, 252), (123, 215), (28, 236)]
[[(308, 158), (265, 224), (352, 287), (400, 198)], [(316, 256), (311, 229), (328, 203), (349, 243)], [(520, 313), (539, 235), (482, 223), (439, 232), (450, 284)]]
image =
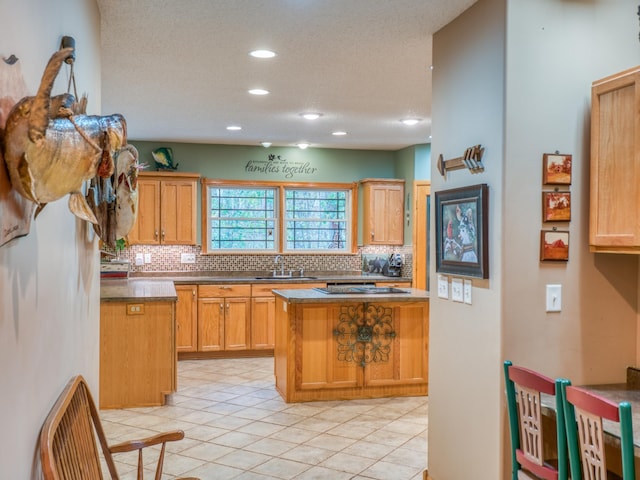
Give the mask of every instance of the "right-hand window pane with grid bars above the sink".
[(285, 188), (285, 251), (348, 251), (347, 190)]

